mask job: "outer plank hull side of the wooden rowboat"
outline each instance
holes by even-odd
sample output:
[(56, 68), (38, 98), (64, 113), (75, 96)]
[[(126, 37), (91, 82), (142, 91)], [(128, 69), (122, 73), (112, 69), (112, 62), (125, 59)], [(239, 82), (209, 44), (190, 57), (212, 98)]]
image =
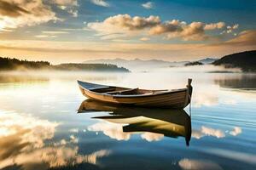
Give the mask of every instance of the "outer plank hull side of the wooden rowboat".
[[(86, 82), (84, 82), (86, 83)], [(91, 91), (83, 83), (79, 83), (79, 88), (85, 97), (96, 99), (102, 102), (120, 104), (120, 105), (135, 105), (142, 107), (162, 107), (183, 109), (190, 103), (192, 87), (182, 88), (174, 91), (166, 91), (160, 94), (148, 95), (109, 95), (100, 94)]]

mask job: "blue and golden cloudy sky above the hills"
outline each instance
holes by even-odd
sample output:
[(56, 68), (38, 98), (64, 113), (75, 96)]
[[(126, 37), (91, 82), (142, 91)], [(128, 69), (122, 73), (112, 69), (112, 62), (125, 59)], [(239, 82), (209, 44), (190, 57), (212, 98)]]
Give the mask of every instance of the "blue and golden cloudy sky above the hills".
[(255, 0), (0, 0), (1, 57), (196, 60), (255, 37)]

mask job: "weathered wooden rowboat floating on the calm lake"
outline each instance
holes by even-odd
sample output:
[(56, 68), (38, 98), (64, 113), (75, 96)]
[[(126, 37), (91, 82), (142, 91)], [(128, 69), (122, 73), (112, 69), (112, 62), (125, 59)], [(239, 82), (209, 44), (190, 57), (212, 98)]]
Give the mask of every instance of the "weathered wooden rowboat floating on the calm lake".
[(183, 109), (189, 105), (192, 95), (191, 82), (192, 79), (189, 79), (186, 88), (174, 90), (147, 90), (139, 88), (121, 88), (78, 81), (82, 94), (90, 99), (121, 105), (176, 109)]

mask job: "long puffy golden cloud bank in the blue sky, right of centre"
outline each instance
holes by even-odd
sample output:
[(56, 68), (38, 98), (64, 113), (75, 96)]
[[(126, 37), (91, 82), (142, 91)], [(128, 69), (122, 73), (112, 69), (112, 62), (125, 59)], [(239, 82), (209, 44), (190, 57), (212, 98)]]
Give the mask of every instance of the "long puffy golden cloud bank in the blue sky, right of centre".
[(102, 22), (90, 22), (87, 27), (97, 31), (96, 36), (109, 34), (123, 34), (126, 37), (135, 37), (143, 32), (148, 36), (163, 35), (166, 39), (181, 38), (184, 41), (201, 41), (211, 38), (206, 31), (224, 28), (224, 22), (202, 23), (192, 22), (187, 24), (179, 20), (167, 20), (161, 22), (159, 16), (131, 17), (129, 14), (118, 14), (108, 17)]

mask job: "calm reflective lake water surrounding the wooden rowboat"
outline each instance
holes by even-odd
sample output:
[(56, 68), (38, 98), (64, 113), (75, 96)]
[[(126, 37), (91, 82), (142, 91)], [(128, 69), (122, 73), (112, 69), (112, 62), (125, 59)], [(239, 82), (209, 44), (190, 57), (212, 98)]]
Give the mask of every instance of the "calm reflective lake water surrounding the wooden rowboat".
[[(76, 82), (161, 89), (188, 77), (191, 112), (106, 111)], [(0, 169), (256, 169), (256, 75), (2, 73), (0, 105)]]

